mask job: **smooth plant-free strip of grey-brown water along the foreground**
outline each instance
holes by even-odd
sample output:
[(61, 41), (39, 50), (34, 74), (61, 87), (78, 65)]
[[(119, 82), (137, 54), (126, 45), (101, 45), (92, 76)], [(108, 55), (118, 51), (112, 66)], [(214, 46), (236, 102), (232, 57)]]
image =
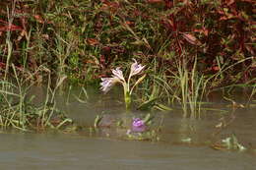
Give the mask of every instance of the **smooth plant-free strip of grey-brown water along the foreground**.
[(1, 169), (253, 170), (255, 156), (207, 146), (72, 135), (1, 134)]

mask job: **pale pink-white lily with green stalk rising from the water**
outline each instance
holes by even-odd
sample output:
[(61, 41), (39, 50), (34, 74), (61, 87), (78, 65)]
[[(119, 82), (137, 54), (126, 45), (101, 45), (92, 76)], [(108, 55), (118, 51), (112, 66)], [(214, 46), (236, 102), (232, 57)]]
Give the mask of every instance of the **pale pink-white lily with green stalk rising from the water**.
[[(123, 92), (124, 92), (124, 101), (125, 101), (125, 106), (126, 109), (130, 109), (131, 107), (131, 102), (132, 102), (132, 91), (136, 85), (138, 85), (140, 82), (143, 81), (146, 75), (142, 76), (137, 80), (137, 82), (134, 85), (131, 85), (131, 78), (135, 75), (140, 74), (145, 66), (142, 66), (137, 63), (135, 59), (134, 63), (131, 65), (131, 70), (130, 70), (130, 75), (128, 77), (128, 80), (126, 81), (123, 77), (123, 72), (120, 70), (119, 67), (116, 69), (112, 70), (112, 77), (111, 78), (101, 78), (101, 83), (100, 83), (100, 89), (106, 93), (113, 85), (119, 83), (123, 85)], [(131, 86), (131, 87), (130, 87)]]

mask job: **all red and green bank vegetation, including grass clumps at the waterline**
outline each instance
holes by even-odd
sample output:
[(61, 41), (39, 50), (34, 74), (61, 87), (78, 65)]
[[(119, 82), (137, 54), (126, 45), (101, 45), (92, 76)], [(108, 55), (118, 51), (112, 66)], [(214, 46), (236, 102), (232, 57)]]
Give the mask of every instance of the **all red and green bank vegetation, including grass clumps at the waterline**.
[[(251, 87), (251, 101), (253, 6), (250, 0), (3, 0), (1, 126), (61, 127), (70, 120), (63, 115), (53, 125), (51, 118), (64, 80), (98, 86), (117, 67), (126, 77), (132, 58), (146, 66), (133, 89), (139, 109), (171, 110), (179, 103), (185, 117), (197, 118), (208, 94), (236, 86)], [(35, 84), (48, 86), (40, 107), (30, 105), (24, 89)]]

